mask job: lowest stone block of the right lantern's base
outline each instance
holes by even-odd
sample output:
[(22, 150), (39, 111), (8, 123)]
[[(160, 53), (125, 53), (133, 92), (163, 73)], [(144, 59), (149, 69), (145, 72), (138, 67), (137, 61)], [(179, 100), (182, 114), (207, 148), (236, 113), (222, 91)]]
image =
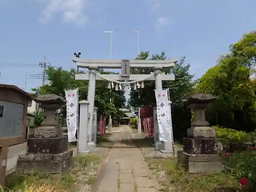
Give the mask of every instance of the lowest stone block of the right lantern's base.
[(178, 151), (178, 161), (182, 163), (189, 174), (220, 173), (223, 169), (219, 155), (188, 154)]

